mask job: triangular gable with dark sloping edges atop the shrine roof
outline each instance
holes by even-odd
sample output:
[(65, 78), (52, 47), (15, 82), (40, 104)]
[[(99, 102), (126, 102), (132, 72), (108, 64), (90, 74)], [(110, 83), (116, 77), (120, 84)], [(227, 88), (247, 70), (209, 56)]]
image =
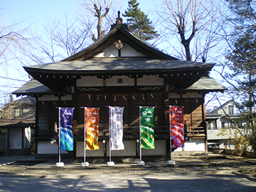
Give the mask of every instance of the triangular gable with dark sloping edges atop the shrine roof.
[[(122, 43), (123, 47), (115, 47), (116, 43)], [(121, 55), (118, 52), (121, 50)], [(123, 26), (119, 25), (113, 28), (106, 36), (100, 38), (100, 40), (93, 43), (91, 46), (81, 50), (79, 53), (65, 58), (63, 61), (72, 61), (72, 60), (89, 60), (91, 58), (102, 57), (133, 57), (133, 56), (142, 56), (151, 59), (167, 59), (167, 60), (178, 60), (177, 58), (166, 55), (165, 53), (148, 46), (139, 38), (135, 37), (127, 31)], [(123, 55), (122, 55), (123, 53)], [(134, 54), (136, 53), (136, 54)], [(139, 53), (139, 55), (138, 55)], [(142, 54), (142, 55), (140, 55)]]

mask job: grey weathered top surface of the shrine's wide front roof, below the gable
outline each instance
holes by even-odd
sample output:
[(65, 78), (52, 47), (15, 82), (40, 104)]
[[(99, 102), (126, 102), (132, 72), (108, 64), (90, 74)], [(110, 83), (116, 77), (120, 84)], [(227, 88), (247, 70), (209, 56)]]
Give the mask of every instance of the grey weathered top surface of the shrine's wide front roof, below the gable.
[(156, 60), (150, 58), (93, 58), (32, 65), (24, 67), (28, 73), (41, 75), (97, 75), (130, 73), (170, 73), (186, 70), (211, 70), (213, 63), (197, 63), (187, 60)]

